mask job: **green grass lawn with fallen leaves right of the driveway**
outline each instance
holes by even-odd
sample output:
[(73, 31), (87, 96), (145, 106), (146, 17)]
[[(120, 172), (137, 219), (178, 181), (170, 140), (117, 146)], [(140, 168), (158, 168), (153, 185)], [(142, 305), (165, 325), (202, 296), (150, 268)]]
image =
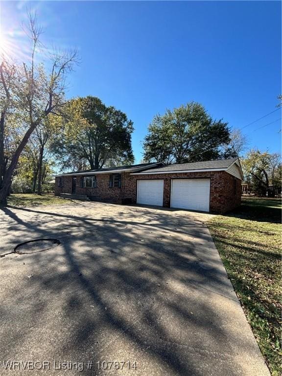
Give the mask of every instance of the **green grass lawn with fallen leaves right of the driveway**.
[(208, 226), (273, 376), (281, 375), (281, 200), (242, 198)]

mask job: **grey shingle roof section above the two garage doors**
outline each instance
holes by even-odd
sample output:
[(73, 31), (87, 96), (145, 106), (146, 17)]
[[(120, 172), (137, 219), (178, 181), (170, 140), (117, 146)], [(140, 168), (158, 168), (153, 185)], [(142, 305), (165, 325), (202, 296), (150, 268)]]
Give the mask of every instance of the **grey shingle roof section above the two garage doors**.
[[(217, 161), (192, 162), (181, 164), (167, 164), (163, 167), (150, 168), (150, 172), (164, 172), (164, 171), (182, 171), (182, 170), (202, 170), (214, 168), (228, 168), (238, 158), (220, 159)], [(142, 170), (145, 173), (147, 170)]]

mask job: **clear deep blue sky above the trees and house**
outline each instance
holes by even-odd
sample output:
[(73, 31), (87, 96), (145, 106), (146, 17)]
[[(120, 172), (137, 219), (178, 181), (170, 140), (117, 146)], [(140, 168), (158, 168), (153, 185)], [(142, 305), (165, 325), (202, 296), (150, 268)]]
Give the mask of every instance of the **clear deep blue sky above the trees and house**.
[[(1, 30), (37, 9), (46, 43), (77, 47), (68, 96), (94, 95), (134, 122), (136, 162), (153, 116), (194, 100), (241, 128), (281, 94), (280, 1), (1, 2)], [(281, 111), (246, 127), (249, 147), (281, 150)]]

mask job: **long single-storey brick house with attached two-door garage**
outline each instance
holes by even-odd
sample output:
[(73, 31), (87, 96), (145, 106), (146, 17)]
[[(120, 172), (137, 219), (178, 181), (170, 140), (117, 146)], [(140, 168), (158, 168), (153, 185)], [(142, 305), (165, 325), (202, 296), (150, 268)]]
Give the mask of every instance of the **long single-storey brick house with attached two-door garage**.
[(135, 164), (57, 175), (55, 195), (223, 213), (240, 205), (242, 179), (238, 158)]

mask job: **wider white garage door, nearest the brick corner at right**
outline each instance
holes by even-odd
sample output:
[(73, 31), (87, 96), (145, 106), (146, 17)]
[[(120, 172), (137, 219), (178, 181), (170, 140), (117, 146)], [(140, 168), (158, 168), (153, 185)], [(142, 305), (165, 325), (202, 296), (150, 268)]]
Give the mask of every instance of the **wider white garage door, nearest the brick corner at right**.
[(171, 208), (210, 211), (210, 179), (173, 179)]

